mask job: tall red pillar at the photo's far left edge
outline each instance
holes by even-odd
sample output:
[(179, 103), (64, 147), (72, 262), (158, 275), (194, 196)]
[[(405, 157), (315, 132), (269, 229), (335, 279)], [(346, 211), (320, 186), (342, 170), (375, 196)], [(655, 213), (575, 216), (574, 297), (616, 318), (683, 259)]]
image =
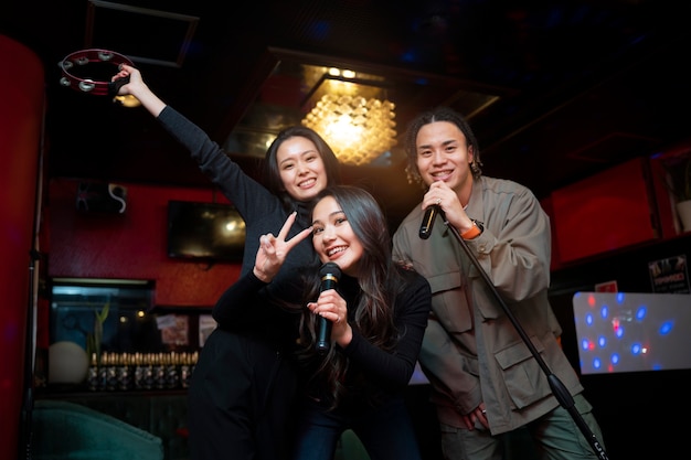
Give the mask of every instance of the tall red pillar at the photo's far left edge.
[[(44, 104), (38, 56), (0, 35), (0, 452), (18, 458)], [(25, 435), (25, 434), (24, 434)]]

